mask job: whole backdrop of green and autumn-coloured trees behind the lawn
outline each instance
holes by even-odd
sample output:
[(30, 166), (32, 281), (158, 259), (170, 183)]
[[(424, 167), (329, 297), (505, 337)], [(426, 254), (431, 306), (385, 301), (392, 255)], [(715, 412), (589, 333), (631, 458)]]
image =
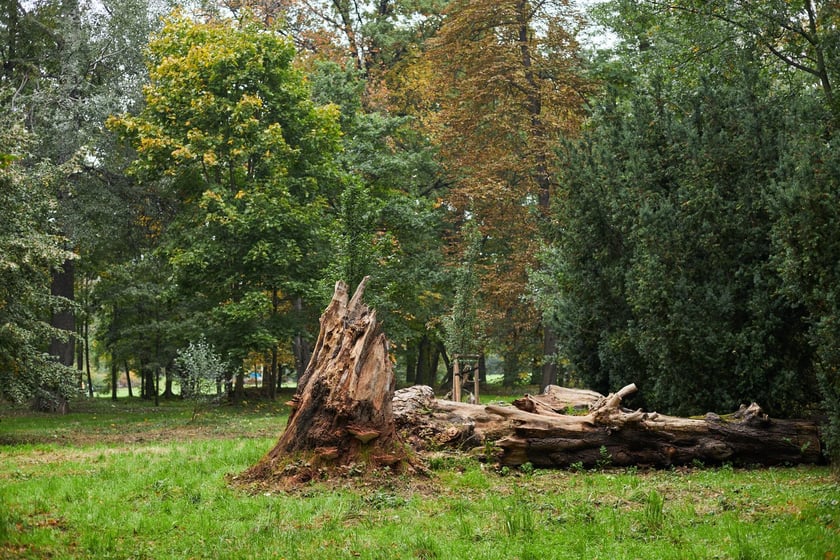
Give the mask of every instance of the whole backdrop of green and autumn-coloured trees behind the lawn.
[(273, 398), (333, 283), (370, 275), (406, 384), (493, 356), (506, 385), (817, 416), (836, 457), (838, 24), (817, 0), (2, 0), (0, 396), (61, 410), (93, 361), (157, 399), (193, 343)]

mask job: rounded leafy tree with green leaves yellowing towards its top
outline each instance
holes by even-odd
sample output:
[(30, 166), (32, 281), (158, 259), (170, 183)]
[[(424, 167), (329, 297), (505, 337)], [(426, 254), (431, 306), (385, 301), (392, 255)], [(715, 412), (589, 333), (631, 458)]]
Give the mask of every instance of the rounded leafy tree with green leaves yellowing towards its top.
[(137, 176), (177, 200), (163, 250), (208, 339), (232, 359), (275, 354), (325, 264), (337, 110), (310, 101), (291, 42), (251, 21), (176, 12), (149, 53), (145, 107), (109, 126), (136, 150)]

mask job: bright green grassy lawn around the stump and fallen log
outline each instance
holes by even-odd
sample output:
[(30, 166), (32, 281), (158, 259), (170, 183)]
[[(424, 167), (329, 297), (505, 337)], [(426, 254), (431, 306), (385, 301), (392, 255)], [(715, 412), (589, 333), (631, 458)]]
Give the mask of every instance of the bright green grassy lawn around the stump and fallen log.
[(277, 404), (93, 399), (0, 412), (0, 558), (840, 558), (826, 467), (495, 470), (249, 494), (230, 474), (275, 443)]

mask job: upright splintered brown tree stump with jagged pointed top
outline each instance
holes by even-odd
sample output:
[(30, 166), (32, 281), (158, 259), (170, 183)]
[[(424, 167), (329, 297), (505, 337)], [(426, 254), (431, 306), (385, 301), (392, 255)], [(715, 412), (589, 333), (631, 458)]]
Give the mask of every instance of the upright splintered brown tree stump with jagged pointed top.
[(331, 474), (411, 469), (392, 412), (395, 377), (376, 312), (363, 302), (365, 278), (348, 301), (338, 282), (274, 448), (239, 479), (306, 482)]

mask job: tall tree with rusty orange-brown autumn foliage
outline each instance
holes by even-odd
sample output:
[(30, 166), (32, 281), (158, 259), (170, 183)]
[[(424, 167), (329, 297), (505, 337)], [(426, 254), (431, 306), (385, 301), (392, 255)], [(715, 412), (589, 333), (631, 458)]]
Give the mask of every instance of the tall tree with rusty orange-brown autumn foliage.
[[(583, 116), (575, 25), (565, 2), (456, 1), (422, 62), (429, 130), (453, 184), (447, 202), (456, 224), (474, 221), (484, 239), (481, 321), (508, 384), (540, 331), (546, 381), (554, 377), (553, 337), (523, 300), (557, 187), (555, 149)], [(460, 255), (465, 241), (455, 244)]]

